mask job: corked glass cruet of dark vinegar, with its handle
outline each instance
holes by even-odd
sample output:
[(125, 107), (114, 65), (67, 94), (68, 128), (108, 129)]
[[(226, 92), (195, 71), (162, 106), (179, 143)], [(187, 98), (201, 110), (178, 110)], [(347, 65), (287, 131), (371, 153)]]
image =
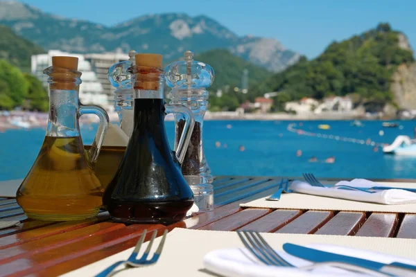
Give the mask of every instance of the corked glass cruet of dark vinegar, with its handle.
[[(119, 169), (105, 189), (103, 204), (116, 221), (169, 224), (182, 220), (193, 205), (180, 165), (195, 121), (187, 107), (164, 103), (162, 55), (137, 54), (135, 62), (132, 134)], [(175, 151), (166, 136), (168, 113), (184, 117)]]

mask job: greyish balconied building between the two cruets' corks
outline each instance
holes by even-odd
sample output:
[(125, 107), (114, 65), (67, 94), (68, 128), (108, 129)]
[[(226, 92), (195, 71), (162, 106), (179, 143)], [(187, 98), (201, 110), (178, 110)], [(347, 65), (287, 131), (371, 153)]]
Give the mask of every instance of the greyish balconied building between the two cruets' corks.
[(108, 69), (113, 64), (117, 62), (128, 60), (128, 54), (121, 53), (117, 51), (116, 53), (96, 53), (96, 54), (86, 54), (85, 60), (87, 60), (91, 66), (92, 70), (96, 73), (98, 82), (101, 83), (103, 87), (103, 93), (105, 93), (110, 102), (114, 99), (114, 87), (111, 86), (108, 80)]

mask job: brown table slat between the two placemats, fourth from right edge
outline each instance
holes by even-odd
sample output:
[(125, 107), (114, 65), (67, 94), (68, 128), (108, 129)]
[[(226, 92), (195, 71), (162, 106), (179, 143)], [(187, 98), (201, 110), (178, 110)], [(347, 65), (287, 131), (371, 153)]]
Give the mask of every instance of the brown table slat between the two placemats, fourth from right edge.
[(307, 211), (293, 220), (293, 222), (275, 231), (275, 233), (315, 233), (315, 231), (320, 229), (332, 217), (333, 212), (331, 211)]

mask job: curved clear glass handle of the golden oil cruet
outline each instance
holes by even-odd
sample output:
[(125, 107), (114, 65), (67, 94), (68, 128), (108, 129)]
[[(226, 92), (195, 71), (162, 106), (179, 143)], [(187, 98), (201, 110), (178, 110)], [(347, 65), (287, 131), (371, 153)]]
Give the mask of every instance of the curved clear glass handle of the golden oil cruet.
[(102, 107), (96, 105), (80, 104), (78, 116), (82, 116), (83, 114), (95, 114), (98, 118), (100, 118), (100, 125), (98, 125), (96, 136), (94, 137), (94, 141), (88, 151), (89, 161), (91, 162), (92, 167), (94, 167), (98, 154), (100, 154), (101, 145), (103, 145), (105, 132), (107, 132), (110, 118), (108, 118), (107, 112)]

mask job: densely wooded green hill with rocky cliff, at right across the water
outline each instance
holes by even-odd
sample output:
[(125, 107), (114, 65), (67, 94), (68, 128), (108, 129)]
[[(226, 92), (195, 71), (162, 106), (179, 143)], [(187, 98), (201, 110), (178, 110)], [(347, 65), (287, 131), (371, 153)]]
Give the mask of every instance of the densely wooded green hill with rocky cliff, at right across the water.
[(406, 37), (389, 24), (379, 24), (361, 35), (333, 42), (315, 60), (302, 57), (253, 89), (257, 94), (284, 91), (280, 101), (352, 94), (356, 102), (392, 102), (392, 73), (399, 64), (413, 61)]

